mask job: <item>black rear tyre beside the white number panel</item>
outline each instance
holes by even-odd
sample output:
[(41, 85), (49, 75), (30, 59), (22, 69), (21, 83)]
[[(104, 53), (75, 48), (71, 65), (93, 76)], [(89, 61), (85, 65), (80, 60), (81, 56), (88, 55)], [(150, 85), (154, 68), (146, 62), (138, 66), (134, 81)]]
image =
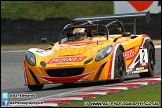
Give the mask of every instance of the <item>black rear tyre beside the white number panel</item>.
[(155, 71), (155, 51), (151, 44), (148, 46), (148, 72), (139, 73), (141, 78), (154, 76)]

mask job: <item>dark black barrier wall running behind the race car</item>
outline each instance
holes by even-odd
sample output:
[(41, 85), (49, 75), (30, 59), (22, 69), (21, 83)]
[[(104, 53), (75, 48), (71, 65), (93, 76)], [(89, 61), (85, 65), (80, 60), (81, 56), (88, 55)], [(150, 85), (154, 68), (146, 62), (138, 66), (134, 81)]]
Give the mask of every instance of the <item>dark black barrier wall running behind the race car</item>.
[[(71, 19), (67, 17), (46, 18), (44, 20), (1, 18), (1, 45), (39, 44), (42, 37), (56, 42), (59, 40), (63, 27), (70, 22)], [(126, 20), (126, 22), (131, 21)], [(161, 13), (151, 14), (151, 20), (148, 24), (146, 19), (137, 19), (136, 26), (137, 33), (147, 33), (152, 39), (161, 39)], [(131, 33), (133, 31), (130, 25), (126, 25), (125, 29)]]

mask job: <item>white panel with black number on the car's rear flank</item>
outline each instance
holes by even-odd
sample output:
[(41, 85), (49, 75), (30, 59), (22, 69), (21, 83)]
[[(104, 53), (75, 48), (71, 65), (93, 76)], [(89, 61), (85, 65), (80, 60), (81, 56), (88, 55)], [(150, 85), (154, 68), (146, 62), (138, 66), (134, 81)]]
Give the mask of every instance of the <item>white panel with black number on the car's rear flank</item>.
[(148, 65), (147, 49), (140, 49), (140, 66)]

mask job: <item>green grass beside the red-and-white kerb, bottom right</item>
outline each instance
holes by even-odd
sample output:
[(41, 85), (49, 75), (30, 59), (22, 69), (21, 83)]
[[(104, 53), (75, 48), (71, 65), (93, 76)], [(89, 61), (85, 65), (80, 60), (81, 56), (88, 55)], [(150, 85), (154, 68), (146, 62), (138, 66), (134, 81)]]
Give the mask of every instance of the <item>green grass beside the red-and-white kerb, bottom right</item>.
[[(140, 86), (138, 88), (131, 88), (128, 90), (119, 90), (116, 93), (107, 93), (107, 95), (97, 95), (95, 99), (92, 98), (85, 98), (84, 100), (80, 101), (72, 101), (71, 104), (60, 104), (61, 107), (84, 107), (85, 103), (88, 102), (88, 105), (91, 106), (90, 103), (93, 102), (116, 102), (121, 104), (121, 102), (138, 102), (144, 105), (157, 103), (159, 105), (154, 105), (154, 107), (161, 106), (161, 82), (155, 84), (149, 84)], [(111, 105), (109, 105), (110, 107)], [(98, 106), (99, 107), (99, 106)], [(112, 106), (111, 106), (112, 107)], [(138, 106), (140, 107), (140, 105)]]

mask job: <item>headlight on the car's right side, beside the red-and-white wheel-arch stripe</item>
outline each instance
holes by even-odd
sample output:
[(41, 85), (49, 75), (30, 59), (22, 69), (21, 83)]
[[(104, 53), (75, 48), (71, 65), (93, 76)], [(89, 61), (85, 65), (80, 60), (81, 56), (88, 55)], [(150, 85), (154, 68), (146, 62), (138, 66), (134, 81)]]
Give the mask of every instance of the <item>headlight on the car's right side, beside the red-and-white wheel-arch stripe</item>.
[(105, 47), (104, 49), (102, 49), (102, 50), (97, 54), (95, 60), (96, 60), (96, 61), (100, 61), (100, 60), (102, 60), (103, 58), (107, 57), (107, 56), (111, 53), (112, 49), (113, 49), (113, 46), (112, 46), (112, 45)]

